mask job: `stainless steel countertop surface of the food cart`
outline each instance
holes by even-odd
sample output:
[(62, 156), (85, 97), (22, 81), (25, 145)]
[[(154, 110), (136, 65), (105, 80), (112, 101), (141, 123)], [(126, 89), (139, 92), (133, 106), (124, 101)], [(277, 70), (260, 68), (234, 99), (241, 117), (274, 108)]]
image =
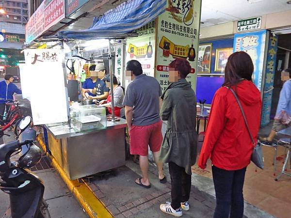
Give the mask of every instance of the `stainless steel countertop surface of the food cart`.
[[(127, 126), (126, 120), (120, 118), (120, 121), (116, 122), (111, 122), (107, 121), (106, 123), (107, 130), (110, 129), (119, 129), (119, 128), (125, 128)], [(55, 139), (62, 139), (62, 138), (69, 138), (69, 137), (74, 137), (74, 136), (83, 136), (92, 132), (98, 132), (98, 131), (104, 131), (105, 129), (90, 129), (87, 131), (81, 131), (81, 132), (76, 132), (75, 129), (73, 128), (68, 128), (68, 125), (53, 125), (53, 126), (48, 126), (45, 125), (46, 129), (50, 132), (50, 134), (53, 135)]]

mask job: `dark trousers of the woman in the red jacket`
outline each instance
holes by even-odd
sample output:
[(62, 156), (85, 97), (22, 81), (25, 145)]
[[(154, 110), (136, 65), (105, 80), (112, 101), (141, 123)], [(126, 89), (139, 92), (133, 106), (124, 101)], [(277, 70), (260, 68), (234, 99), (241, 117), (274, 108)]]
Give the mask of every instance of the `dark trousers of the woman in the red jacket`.
[(212, 166), (212, 176), (216, 195), (214, 218), (243, 217), (243, 195), (246, 167), (237, 171), (226, 171)]

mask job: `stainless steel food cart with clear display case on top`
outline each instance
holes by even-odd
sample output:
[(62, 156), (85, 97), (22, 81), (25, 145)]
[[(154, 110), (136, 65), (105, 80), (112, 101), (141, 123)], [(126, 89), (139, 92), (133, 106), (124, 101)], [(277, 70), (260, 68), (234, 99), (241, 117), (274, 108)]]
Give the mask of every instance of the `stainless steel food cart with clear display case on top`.
[[(93, 56), (91, 61), (109, 60), (110, 88), (113, 90), (114, 55), (111, 53), (111, 39), (107, 41), (109, 51), (107, 57)], [(76, 55), (73, 57), (78, 59)], [(111, 98), (114, 98), (113, 92)], [(44, 125), (48, 132), (49, 151), (70, 180), (125, 165), (126, 120), (115, 119), (114, 104), (112, 104), (112, 120), (108, 121), (105, 108), (82, 103), (75, 102), (70, 106), (67, 123)]]

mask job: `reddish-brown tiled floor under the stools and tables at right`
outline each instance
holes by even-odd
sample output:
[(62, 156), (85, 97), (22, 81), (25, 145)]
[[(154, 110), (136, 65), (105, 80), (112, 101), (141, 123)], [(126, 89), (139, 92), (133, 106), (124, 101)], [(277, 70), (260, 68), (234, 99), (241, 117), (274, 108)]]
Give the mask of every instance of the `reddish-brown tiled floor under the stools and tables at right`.
[[(272, 123), (260, 129), (259, 134), (267, 136), (271, 131)], [(199, 144), (201, 149), (202, 143)], [(291, 215), (291, 177), (282, 175), (276, 182), (274, 179), (283, 166), (285, 148), (279, 146), (277, 155), (277, 167), (274, 176), (274, 148), (263, 146), (265, 169), (255, 168), (251, 163), (246, 170), (243, 196), (246, 202), (266, 211), (277, 218), (290, 218)], [(198, 158), (198, 157), (197, 157)], [(287, 171), (291, 171), (290, 163)], [(197, 165), (192, 167), (192, 172), (212, 179), (211, 161), (208, 161), (207, 168), (201, 170)]]

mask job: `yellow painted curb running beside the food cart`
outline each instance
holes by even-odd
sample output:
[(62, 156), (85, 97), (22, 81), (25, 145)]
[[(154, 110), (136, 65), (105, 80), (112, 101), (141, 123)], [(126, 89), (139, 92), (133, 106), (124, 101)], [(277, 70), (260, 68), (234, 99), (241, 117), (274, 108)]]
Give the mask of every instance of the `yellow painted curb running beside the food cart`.
[(86, 213), (90, 218), (113, 218), (113, 215), (106, 209), (104, 204), (96, 197), (92, 190), (84, 183), (80, 183), (78, 180), (70, 180), (67, 178), (65, 171), (58, 164), (56, 159), (49, 155), (46, 151), (46, 145), (42, 140), (42, 136), (38, 135), (37, 141), (47, 156), (51, 159), (52, 166), (60, 173), (62, 179), (67, 185), (72, 194), (80, 202)]

